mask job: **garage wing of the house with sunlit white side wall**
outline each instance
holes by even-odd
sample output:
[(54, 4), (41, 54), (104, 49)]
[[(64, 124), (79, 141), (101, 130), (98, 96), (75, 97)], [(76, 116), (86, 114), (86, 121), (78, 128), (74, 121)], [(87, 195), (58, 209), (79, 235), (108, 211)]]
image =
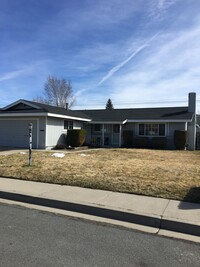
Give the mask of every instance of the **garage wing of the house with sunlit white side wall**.
[(67, 129), (81, 129), (87, 115), (27, 100), (0, 110), (0, 146), (28, 147), (28, 125), (33, 124), (33, 148), (52, 148), (65, 142)]

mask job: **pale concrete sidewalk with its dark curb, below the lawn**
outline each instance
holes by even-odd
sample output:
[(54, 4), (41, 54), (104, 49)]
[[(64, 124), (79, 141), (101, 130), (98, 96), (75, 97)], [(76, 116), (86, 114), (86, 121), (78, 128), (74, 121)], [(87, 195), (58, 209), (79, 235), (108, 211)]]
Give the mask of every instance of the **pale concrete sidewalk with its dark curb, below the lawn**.
[(0, 178), (0, 198), (188, 234), (200, 241), (200, 204)]

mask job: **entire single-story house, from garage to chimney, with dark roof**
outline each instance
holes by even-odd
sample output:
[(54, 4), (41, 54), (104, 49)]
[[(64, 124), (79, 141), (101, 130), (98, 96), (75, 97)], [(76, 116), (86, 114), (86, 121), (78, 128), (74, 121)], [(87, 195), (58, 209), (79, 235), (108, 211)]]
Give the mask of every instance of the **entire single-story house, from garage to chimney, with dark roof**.
[(174, 149), (174, 131), (188, 133), (188, 149), (197, 147), (196, 93), (188, 106), (135, 109), (67, 110), (18, 100), (0, 110), (0, 146), (27, 147), (28, 125), (33, 124), (33, 148), (47, 149), (64, 143), (68, 129), (86, 129), (86, 143), (121, 147), (125, 138), (137, 142), (166, 141)]

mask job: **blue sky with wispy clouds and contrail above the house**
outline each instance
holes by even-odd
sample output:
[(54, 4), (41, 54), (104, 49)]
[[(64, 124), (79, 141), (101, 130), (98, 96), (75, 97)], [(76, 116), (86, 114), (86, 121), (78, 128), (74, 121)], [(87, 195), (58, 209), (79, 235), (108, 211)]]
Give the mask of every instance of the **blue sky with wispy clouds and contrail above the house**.
[(199, 0), (0, 0), (0, 107), (72, 83), (75, 109), (200, 112)]

